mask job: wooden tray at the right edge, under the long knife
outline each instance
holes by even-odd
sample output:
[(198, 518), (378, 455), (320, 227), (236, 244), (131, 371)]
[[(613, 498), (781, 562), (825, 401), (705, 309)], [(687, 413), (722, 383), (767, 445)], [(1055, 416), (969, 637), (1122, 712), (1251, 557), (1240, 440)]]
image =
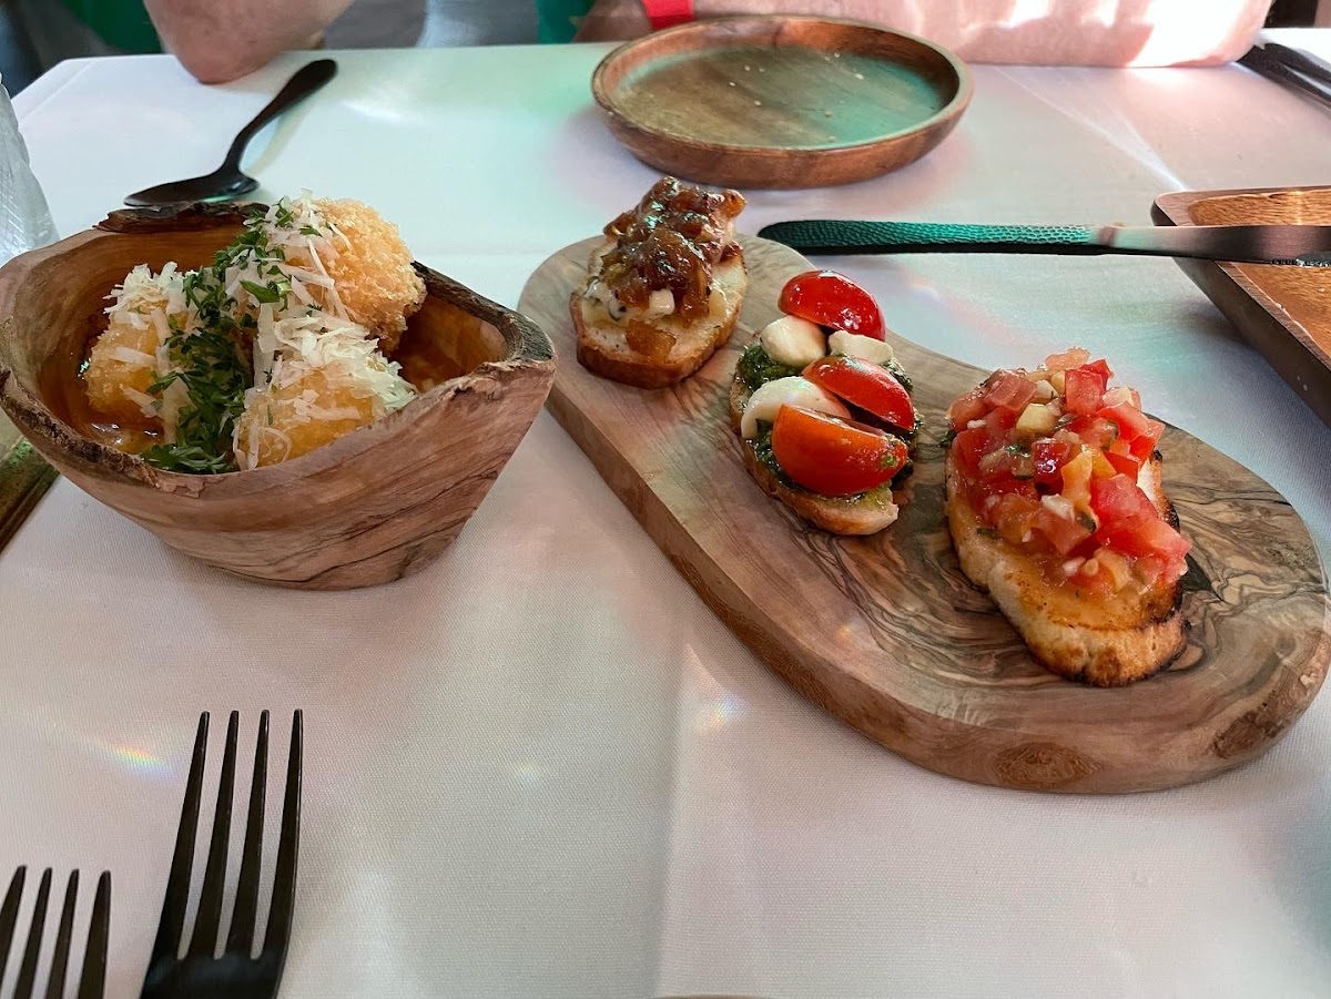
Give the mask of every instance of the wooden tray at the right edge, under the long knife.
[[(1327, 225), (1331, 188), (1183, 190), (1162, 194), (1161, 225)], [(1331, 270), (1178, 261), (1193, 282), (1331, 424)]]

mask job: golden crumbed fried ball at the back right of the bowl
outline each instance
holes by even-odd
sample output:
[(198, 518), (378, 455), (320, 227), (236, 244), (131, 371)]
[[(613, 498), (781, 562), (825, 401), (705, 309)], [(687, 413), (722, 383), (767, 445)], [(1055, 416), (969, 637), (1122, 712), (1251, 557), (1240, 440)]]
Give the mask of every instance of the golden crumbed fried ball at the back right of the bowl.
[[(327, 237), (337, 253), (322, 263), (337, 285), (347, 318), (370, 330), (379, 339), (383, 354), (391, 355), (407, 329), (407, 317), (425, 301), (425, 282), (411, 266), (411, 251), (398, 235), (398, 227), (369, 205), (321, 198), (314, 208), (346, 237)], [(287, 253), (287, 261), (301, 267), (311, 265), (298, 249)], [(330, 309), (323, 289), (311, 286), (309, 290)]]

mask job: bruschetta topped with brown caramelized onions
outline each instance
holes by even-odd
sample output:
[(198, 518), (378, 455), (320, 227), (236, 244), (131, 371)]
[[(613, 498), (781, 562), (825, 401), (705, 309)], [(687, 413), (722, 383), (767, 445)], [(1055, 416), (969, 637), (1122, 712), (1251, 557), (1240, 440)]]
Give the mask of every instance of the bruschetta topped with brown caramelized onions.
[(729, 339), (748, 287), (735, 241), (743, 208), (736, 190), (663, 177), (607, 225), (570, 301), (583, 367), (642, 388), (701, 367)]

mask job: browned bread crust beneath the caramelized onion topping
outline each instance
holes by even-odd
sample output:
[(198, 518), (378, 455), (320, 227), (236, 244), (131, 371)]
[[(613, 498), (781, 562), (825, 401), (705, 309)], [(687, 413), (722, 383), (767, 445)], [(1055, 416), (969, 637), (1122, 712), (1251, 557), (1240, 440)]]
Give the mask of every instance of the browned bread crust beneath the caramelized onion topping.
[[(664, 358), (634, 350), (623, 327), (596, 318), (596, 310), (587, 299), (587, 290), (595, 279), (596, 275), (590, 274), (568, 301), (574, 329), (578, 330), (578, 363), (615, 382), (639, 388), (664, 388), (697, 371), (729, 341), (744, 303), (748, 266), (744, 255), (736, 254), (713, 270), (713, 286), (725, 282), (728, 299), (732, 299), (719, 318), (708, 314), (689, 326), (683, 326), (679, 321), (658, 325), (662, 335), (673, 341)], [(719, 293), (713, 290), (713, 294)], [(651, 321), (638, 322), (652, 325)]]

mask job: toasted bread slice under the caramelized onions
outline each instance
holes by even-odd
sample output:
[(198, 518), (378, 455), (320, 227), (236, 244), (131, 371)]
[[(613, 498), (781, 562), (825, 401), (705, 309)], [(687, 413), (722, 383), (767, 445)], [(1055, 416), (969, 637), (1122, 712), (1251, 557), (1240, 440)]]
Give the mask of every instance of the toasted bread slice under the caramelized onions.
[(744, 255), (712, 269), (709, 311), (697, 321), (679, 315), (652, 319), (626, 315), (616, 322), (590, 294), (595, 269), (568, 302), (578, 330), (578, 360), (598, 375), (639, 388), (660, 388), (688, 378), (731, 338), (748, 287)]

